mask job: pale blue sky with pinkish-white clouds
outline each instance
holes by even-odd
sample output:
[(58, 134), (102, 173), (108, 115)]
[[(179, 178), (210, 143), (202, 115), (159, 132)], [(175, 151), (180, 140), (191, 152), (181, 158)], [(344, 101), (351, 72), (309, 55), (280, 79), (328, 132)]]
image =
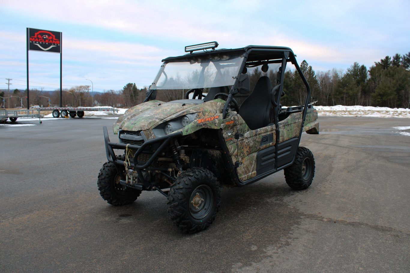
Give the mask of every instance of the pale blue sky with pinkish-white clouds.
[[(148, 86), (164, 57), (287, 46), (315, 71), (345, 70), (410, 51), (410, 1), (0, 0), (0, 89), (26, 87), (26, 27), (62, 32), (63, 88)], [(59, 55), (29, 52), (30, 88), (59, 88)]]

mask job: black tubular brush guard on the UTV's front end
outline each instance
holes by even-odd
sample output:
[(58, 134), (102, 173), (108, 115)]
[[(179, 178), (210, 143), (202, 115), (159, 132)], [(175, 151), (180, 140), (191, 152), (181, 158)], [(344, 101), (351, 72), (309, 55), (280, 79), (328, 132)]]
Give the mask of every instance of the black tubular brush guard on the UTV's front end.
[[(128, 149), (135, 150), (134, 160), (131, 164), (131, 167), (133, 167), (133, 168), (135, 168), (139, 171), (141, 171), (141, 170), (147, 168), (148, 166), (150, 166), (153, 163), (153, 161), (157, 158), (159, 153), (162, 152), (162, 150), (164, 150), (164, 148), (166, 148), (166, 146), (168, 145), (168, 143), (172, 139), (175, 139), (177, 137), (182, 136), (182, 132), (177, 132), (177, 133), (169, 134), (169, 135), (166, 135), (166, 136), (161, 136), (161, 137), (158, 137), (156, 139), (148, 139), (141, 146), (139, 146), (139, 145), (132, 145), (132, 144), (118, 143), (118, 142), (109, 141), (107, 126), (103, 126), (103, 132), (104, 132), (104, 141), (105, 141), (105, 153), (107, 154), (108, 161), (112, 162), (114, 164), (117, 164), (117, 165), (124, 166), (124, 161), (119, 160), (119, 159), (116, 158), (116, 155), (114, 153), (114, 149), (125, 150), (127, 148), (127, 145), (128, 145)], [(147, 148), (148, 146), (150, 146), (152, 144), (155, 144), (155, 143), (158, 143), (158, 142), (162, 142), (162, 144), (153, 153), (153, 155), (150, 157), (150, 159), (148, 159), (148, 161), (145, 164), (139, 165), (138, 161), (137, 161), (137, 157), (141, 154), (141, 152), (143, 152), (145, 150), (145, 148)]]

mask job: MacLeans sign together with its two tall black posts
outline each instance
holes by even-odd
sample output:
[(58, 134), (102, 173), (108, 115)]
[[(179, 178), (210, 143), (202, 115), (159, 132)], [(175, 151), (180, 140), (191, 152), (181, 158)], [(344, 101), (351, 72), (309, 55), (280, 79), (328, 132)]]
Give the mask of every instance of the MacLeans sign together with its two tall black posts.
[(28, 76), (28, 52), (43, 51), (60, 54), (60, 107), (62, 107), (62, 32), (38, 30), (27, 27), (27, 109), (30, 108), (29, 76)]

